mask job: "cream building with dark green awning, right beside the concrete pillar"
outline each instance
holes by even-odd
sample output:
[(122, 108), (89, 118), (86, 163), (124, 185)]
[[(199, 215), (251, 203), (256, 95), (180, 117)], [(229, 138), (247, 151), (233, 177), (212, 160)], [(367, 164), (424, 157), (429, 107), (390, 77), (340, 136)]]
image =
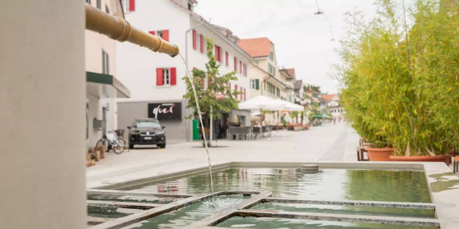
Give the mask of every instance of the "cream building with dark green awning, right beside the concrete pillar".
[[(124, 17), (118, 0), (86, 0), (106, 13)], [(117, 128), (115, 98), (129, 98), (130, 91), (116, 71), (117, 41), (85, 31), (86, 144), (94, 147), (104, 132)]]

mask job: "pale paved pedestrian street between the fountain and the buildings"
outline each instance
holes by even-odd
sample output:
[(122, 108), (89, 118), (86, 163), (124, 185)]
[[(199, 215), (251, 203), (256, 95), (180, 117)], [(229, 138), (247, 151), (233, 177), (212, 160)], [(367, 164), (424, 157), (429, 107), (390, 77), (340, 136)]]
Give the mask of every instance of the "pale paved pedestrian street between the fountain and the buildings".
[[(215, 142), (215, 141), (214, 141)], [(210, 148), (213, 164), (232, 161), (356, 161), (359, 136), (345, 123), (312, 127), (307, 131), (273, 132), (269, 138), (219, 140)], [(166, 149), (135, 149), (106, 158), (86, 170), (87, 187), (97, 187), (133, 179), (207, 166), (201, 142), (168, 141)]]

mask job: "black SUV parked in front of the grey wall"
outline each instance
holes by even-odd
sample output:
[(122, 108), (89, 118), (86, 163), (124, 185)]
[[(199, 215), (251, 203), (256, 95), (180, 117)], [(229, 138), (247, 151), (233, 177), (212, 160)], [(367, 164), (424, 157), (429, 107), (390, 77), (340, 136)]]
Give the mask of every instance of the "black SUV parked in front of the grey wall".
[(135, 119), (129, 129), (129, 149), (134, 145), (166, 148), (166, 132), (157, 119)]

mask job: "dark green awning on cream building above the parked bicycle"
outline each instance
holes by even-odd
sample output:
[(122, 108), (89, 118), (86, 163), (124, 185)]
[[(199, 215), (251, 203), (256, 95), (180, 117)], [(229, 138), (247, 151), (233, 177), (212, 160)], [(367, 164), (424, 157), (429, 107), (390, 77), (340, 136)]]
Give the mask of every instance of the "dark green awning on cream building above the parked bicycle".
[(86, 72), (86, 93), (98, 98), (130, 98), (131, 91), (114, 76)]

